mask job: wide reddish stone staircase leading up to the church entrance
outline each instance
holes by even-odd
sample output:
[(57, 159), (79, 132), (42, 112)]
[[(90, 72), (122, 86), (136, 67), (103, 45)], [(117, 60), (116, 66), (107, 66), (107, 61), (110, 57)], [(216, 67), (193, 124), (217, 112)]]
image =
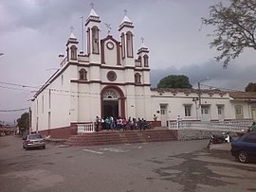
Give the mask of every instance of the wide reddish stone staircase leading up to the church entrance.
[(105, 146), (177, 140), (174, 130), (99, 131), (69, 137), (69, 146)]

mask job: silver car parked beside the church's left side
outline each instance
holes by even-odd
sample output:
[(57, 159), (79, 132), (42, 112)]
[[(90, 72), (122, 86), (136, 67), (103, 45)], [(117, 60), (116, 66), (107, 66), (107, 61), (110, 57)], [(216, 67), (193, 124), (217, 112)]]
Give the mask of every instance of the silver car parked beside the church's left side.
[(23, 148), (46, 148), (46, 141), (40, 133), (27, 134)]

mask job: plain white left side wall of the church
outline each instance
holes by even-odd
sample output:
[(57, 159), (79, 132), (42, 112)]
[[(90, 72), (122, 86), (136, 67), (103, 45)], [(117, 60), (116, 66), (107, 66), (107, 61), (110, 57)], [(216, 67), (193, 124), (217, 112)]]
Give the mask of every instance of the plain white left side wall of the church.
[(44, 131), (69, 126), (70, 96), (70, 71), (67, 68), (62, 75), (46, 86), (33, 101), (36, 107), (32, 112), (34, 120), (31, 129)]

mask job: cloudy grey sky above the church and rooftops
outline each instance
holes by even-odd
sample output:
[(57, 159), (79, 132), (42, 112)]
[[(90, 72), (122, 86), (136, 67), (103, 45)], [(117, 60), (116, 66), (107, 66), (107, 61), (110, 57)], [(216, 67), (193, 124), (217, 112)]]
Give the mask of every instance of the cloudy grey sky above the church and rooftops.
[[(127, 16), (133, 22), (135, 53), (141, 44), (150, 50), (151, 83), (155, 87), (168, 75), (186, 75), (194, 88), (244, 91), (255, 82), (253, 50), (223, 69), (214, 61), (218, 52), (210, 49), (208, 34), (214, 28), (202, 26), (201, 18), (221, 0), (94, 0), (101, 18), (101, 39), (111, 35), (119, 41), (119, 24)], [(229, 3), (229, 0), (222, 0)], [(70, 26), (82, 48), (82, 19), (91, 10), (91, 0), (0, 0), (0, 121), (14, 122), (30, 107), (29, 99), (59, 67), (65, 53)], [(84, 41), (84, 47), (86, 41)], [(13, 112), (15, 110), (21, 110)], [(10, 112), (9, 112), (10, 111)]]

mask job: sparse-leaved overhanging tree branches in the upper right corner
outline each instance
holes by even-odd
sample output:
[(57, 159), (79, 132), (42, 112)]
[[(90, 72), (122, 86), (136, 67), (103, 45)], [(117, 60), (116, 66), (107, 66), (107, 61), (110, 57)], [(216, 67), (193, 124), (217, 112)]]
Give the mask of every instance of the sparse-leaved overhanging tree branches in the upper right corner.
[(220, 2), (210, 7), (210, 17), (202, 18), (205, 26), (216, 26), (210, 48), (221, 52), (216, 61), (224, 60), (227, 68), (231, 59), (237, 58), (245, 48), (256, 50), (256, 1), (229, 0), (229, 7)]

